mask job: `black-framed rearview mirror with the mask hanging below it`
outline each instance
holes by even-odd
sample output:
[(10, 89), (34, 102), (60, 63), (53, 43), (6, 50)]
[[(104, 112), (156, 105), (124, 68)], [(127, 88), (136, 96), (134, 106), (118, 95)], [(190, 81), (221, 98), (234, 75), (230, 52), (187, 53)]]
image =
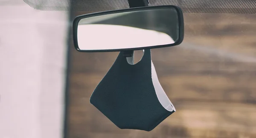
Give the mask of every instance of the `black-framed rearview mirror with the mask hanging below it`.
[(177, 6), (150, 6), (85, 14), (73, 22), (79, 52), (154, 49), (183, 41), (183, 13)]

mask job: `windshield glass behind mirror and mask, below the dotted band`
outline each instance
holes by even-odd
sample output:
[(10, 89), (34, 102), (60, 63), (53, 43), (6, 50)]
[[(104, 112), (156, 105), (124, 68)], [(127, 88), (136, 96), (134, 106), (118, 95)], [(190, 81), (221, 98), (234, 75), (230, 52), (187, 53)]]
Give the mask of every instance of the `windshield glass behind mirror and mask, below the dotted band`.
[(256, 14), (184, 10), (183, 43), (151, 50), (176, 112), (144, 132), (118, 129), (89, 102), (119, 54), (74, 49), (72, 21), (89, 12), (0, 2), (0, 138), (255, 138)]

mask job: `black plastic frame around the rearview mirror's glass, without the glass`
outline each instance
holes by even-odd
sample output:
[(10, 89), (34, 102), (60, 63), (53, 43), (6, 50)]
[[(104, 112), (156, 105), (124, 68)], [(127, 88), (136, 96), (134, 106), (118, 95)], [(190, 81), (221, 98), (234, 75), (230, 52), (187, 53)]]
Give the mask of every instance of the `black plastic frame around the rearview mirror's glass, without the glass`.
[[(179, 21), (179, 38), (175, 43), (167, 44), (167, 45), (159, 45), (159, 46), (148, 46), (148, 47), (140, 47), (140, 48), (130, 48), (130, 49), (106, 49), (106, 50), (81, 50), (79, 49), (78, 43), (77, 43), (77, 27), (79, 21), (84, 17), (93, 17), (93, 16), (99, 16), (104, 14), (112, 14), (112, 13), (120, 13), (120, 12), (127, 12), (127, 11), (142, 11), (142, 10), (148, 10), (148, 9), (169, 9), (174, 8), (177, 10), (178, 14), (178, 21)], [(130, 50), (143, 50), (143, 49), (155, 49), (155, 48), (162, 48), (162, 47), (169, 47), (169, 46), (177, 46), (180, 43), (182, 43), (184, 38), (184, 20), (183, 20), (183, 12), (180, 9), (180, 7), (177, 6), (147, 6), (147, 7), (136, 7), (136, 8), (128, 8), (128, 9), (120, 9), (120, 10), (111, 10), (111, 11), (102, 11), (102, 12), (96, 12), (91, 14), (84, 14), (77, 16), (73, 21), (73, 42), (75, 49), (79, 52), (120, 52), (120, 51), (130, 51)]]

